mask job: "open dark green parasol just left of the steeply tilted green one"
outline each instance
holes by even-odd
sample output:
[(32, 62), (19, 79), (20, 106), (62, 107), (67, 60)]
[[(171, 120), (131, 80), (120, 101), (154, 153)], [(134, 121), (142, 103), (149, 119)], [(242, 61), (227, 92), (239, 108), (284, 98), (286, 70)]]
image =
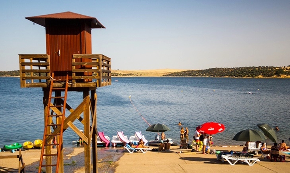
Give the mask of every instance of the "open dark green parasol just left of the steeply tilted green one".
[(233, 140), (236, 141), (257, 141), (266, 139), (267, 137), (262, 132), (254, 129), (242, 130), (233, 138)]

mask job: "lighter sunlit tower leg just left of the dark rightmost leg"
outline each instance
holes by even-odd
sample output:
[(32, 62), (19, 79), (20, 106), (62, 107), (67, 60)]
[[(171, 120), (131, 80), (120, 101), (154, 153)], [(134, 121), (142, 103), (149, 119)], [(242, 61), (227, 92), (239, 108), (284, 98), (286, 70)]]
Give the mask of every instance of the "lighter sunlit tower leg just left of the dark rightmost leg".
[(84, 143), (84, 156), (85, 156), (85, 172), (91, 172), (91, 157), (90, 157), (90, 94), (86, 90), (83, 92), (84, 99), (87, 98), (86, 104), (84, 105), (84, 135), (88, 138), (88, 143)]

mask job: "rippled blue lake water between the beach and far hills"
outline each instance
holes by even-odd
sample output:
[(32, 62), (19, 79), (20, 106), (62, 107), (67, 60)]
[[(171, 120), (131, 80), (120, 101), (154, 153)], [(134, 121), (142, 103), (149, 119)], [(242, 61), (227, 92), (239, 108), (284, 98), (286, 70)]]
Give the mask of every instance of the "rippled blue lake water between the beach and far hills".
[[(167, 125), (171, 131), (165, 132), (166, 137), (175, 142), (180, 140), (178, 122), (189, 128), (192, 139), (198, 125), (214, 121), (226, 127), (213, 135), (214, 145), (243, 145), (232, 140), (235, 134), (244, 129), (259, 130), (260, 123), (278, 126), (278, 141), (289, 143), (290, 79), (115, 77), (112, 81), (110, 86), (97, 88), (97, 129), (110, 139), (117, 131), (128, 138), (142, 131), (146, 139), (153, 140), (156, 133), (145, 131), (148, 125), (140, 113), (150, 124)], [(0, 77), (1, 148), (42, 139), (42, 97), (41, 88), (20, 88), (19, 78)], [(81, 100), (82, 93), (68, 92), (67, 104), (74, 109)], [(78, 120), (74, 124), (81, 129)], [(75, 146), (72, 141), (78, 138), (68, 128), (64, 146)]]

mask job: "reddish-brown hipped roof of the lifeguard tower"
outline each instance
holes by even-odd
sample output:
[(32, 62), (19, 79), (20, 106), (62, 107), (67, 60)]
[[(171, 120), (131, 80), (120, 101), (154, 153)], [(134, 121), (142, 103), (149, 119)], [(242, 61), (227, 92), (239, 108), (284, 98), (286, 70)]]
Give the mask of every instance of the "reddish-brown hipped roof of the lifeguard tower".
[(28, 19), (44, 27), (45, 27), (45, 19), (88, 19), (90, 20), (91, 28), (105, 28), (105, 26), (103, 26), (95, 17), (81, 15), (81, 14), (70, 12), (70, 11), (48, 14), (48, 15), (25, 17), (25, 19)]

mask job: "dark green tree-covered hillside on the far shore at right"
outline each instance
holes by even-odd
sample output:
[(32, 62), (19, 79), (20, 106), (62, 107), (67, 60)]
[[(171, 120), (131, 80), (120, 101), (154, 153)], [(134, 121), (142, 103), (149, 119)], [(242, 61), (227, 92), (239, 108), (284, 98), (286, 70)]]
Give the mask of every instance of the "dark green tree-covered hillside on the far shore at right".
[(211, 68), (205, 70), (187, 70), (174, 72), (163, 76), (196, 76), (196, 77), (281, 77), (290, 75), (290, 66), (258, 66), (258, 67), (235, 67), (235, 68)]

